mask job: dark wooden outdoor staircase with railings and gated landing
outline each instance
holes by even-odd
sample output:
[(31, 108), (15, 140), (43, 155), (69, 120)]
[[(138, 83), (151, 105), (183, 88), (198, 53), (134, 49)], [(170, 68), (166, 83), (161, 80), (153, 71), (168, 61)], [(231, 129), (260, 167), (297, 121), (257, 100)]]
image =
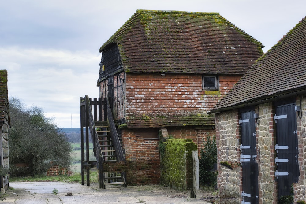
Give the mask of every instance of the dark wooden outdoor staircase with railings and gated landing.
[[(81, 176), (82, 185), (89, 186), (90, 169), (97, 168), (99, 171), (99, 187), (106, 185), (122, 185), (126, 187), (125, 172), (105, 172), (103, 163), (125, 162), (125, 156), (118, 137), (114, 118), (111, 113), (107, 98), (80, 97), (81, 117)], [(84, 158), (84, 127), (85, 127), (85, 150)], [(93, 144), (95, 161), (89, 158), (89, 132)]]

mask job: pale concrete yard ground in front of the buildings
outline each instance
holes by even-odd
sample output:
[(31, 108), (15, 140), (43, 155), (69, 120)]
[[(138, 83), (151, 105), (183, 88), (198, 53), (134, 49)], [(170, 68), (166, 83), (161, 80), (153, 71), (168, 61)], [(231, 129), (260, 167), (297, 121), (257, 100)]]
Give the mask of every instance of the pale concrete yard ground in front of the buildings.
[[(90, 186), (65, 182), (10, 182), (6, 195), (0, 203), (15, 204), (79, 204), (79, 203), (145, 203), (145, 204), (209, 204), (209, 193), (199, 190), (197, 198), (190, 198), (190, 192), (181, 192), (159, 185), (107, 186), (99, 189), (98, 184)], [(54, 194), (54, 189), (58, 190)], [(71, 194), (72, 195), (71, 195)], [(70, 195), (69, 195), (70, 194)], [(213, 198), (215, 199), (215, 198)], [(216, 198), (217, 199), (217, 198)], [(211, 200), (210, 200), (211, 201)]]

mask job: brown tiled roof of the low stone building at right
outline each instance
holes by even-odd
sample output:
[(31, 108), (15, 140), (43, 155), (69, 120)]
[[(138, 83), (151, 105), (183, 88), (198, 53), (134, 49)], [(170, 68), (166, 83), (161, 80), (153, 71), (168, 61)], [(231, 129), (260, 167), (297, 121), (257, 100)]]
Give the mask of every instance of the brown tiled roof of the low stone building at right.
[(303, 18), (212, 109), (220, 112), (306, 91), (306, 20)]

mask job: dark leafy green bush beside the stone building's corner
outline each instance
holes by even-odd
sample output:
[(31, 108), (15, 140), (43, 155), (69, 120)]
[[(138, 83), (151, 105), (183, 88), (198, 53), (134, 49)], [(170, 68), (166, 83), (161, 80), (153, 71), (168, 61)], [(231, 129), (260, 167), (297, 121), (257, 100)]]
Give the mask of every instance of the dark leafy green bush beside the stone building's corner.
[(199, 183), (204, 186), (215, 186), (217, 184), (218, 172), (213, 171), (217, 163), (216, 136), (207, 136), (207, 142), (200, 152), (199, 159)]

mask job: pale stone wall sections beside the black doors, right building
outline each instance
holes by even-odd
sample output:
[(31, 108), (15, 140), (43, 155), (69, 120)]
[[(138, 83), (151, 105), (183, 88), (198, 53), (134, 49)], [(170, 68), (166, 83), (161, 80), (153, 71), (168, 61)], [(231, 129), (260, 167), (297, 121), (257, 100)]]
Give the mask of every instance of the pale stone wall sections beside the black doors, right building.
[[(296, 104), (300, 105), (301, 97), (296, 98)], [(297, 115), (297, 136), (299, 148), (300, 177), (294, 187), (294, 203), (306, 201), (306, 98), (302, 97), (301, 118)], [(277, 204), (277, 179), (274, 176), (276, 165), (274, 159), (276, 152), (275, 114), (272, 102), (260, 104), (255, 107), (255, 113), (259, 113), (259, 124), (256, 124), (256, 144), (259, 164), (259, 204)], [(240, 159), (240, 130), (238, 110), (226, 111), (215, 115), (216, 139), (218, 147), (218, 189), (220, 198), (237, 198), (224, 203), (240, 203), (242, 192), (242, 169)], [(228, 162), (232, 169), (222, 166), (220, 162)], [(239, 201), (240, 200), (240, 201)]]

